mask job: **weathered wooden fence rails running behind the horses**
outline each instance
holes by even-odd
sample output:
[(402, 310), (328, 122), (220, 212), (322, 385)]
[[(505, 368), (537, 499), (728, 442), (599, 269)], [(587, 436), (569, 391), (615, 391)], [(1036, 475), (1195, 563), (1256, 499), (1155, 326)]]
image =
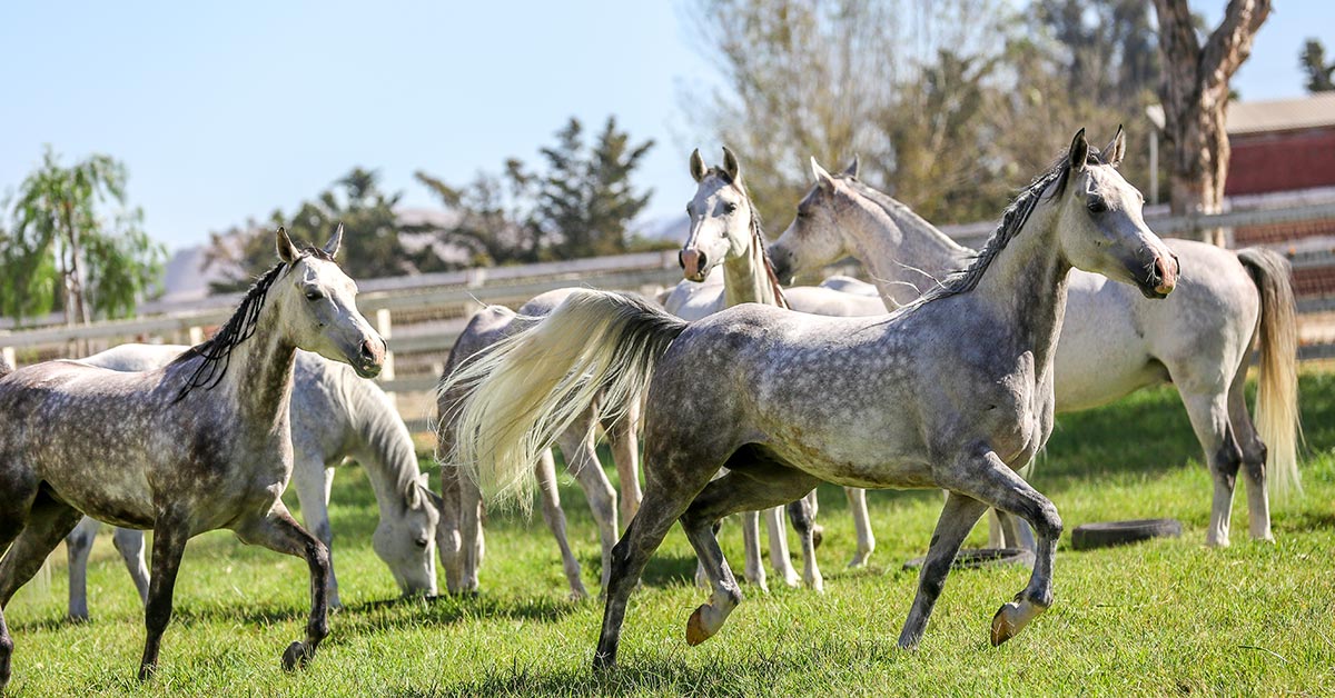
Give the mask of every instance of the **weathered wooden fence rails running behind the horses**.
[[(1214, 216), (1152, 216), (1151, 227), (1161, 234), (1184, 234), (1215, 227), (1275, 226), (1312, 220), (1335, 220), (1335, 202), (1308, 203), (1282, 208), (1235, 211)], [(960, 226), (945, 231), (964, 243), (991, 232), (991, 226)], [(1331, 268), (1335, 272), (1335, 238), (1304, 238), (1270, 244), (1287, 254), (1295, 274)], [(469, 318), (483, 304), (518, 306), (554, 288), (583, 286), (622, 291), (647, 291), (681, 280), (676, 251), (642, 252), (607, 258), (530, 264), (522, 267), (475, 268), (421, 276), (370, 279), (359, 282), (358, 306), (386, 336), (391, 368), (380, 376), (390, 392), (413, 396), (400, 408), (413, 428), (426, 428), (423, 399), (430, 399), (443, 358)], [(0, 330), (0, 350), (13, 362), (17, 352), (29, 358), (60, 355), (71, 342), (120, 343), (125, 340), (196, 342), (204, 328), (231, 316), (240, 295), (212, 296), (194, 304), (146, 303), (131, 320), (99, 322), (68, 327), (59, 315), (47, 318), (45, 327)], [(1304, 322), (1323, 323), (1318, 339), (1299, 350), (1299, 358), (1335, 358), (1335, 294), (1300, 298)], [(430, 311), (430, 312), (425, 312)], [(431, 315), (422, 320), (423, 315)], [(411, 402), (411, 400), (410, 400)]]

